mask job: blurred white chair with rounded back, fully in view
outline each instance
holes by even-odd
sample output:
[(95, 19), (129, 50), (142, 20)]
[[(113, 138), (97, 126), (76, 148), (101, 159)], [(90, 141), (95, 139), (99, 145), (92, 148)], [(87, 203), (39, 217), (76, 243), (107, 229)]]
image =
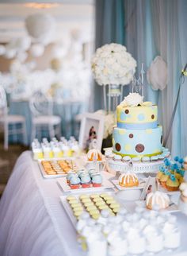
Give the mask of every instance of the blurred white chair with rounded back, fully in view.
[(48, 129), (48, 134), (52, 139), (61, 136), (61, 118), (53, 115), (53, 101), (41, 91), (36, 91), (29, 100), (29, 107), (32, 113), (32, 140), (36, 138), (37, 132), (44, 128)]

